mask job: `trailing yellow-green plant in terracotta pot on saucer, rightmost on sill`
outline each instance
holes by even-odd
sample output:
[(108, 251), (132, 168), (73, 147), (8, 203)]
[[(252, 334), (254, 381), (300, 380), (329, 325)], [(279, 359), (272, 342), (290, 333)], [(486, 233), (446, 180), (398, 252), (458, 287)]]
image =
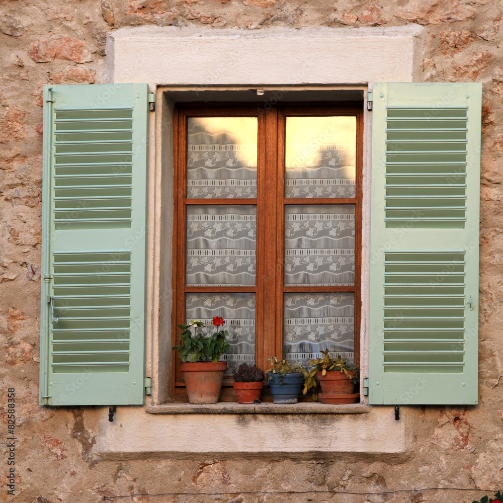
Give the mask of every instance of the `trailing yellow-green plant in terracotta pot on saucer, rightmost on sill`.
[[(328, 350), (322, 351), (322, 358), (310, 360), (311, 369), (306, 373), (303, 393), (313, 390), (313, 400), (318, 396), (323, 403), (356, 403), (360, 396), (354, 393), (358, 383), (358, 367), (347, 363), (341, 356), (337, 359), (328, 354)], [(318, 395), (318, 382), (321, 393)]]

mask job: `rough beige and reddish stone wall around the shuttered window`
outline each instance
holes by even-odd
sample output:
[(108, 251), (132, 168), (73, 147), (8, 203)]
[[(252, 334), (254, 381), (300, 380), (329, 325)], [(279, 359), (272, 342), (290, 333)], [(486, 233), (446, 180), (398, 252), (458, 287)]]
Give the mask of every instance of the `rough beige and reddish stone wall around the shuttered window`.
[[(177, 493), (115, 501), (454, 502), (471, 501), (481, 494), (365, 493), (501, 487), (502, 14), (501, 4), (491, 0), (102, 0), (101, 4), (98, 0), (0, 0), (0, 500), (12, 500), (6, 487), (9, 386), (16, 388), (17, 398), (15, 501), (94, 503), (103, 496)], [(209, 25), (247, 30), (349, 26), (356, 30), (409, 23), (423, 25), (428, 32), (424, 80), (483, 82), (479, 405), (402, 407), (411, 443), (399, 455), (184, 455), (180, 459), (102, 460), (95, 445), (105, 408), (38, 405), (42, 87), (102, 82), (106, 33), (124, 26)], [(260, 494), (327, 490), (363, 495)], [(184, 492), (227, 494), (194, 499), (180, 494)]]

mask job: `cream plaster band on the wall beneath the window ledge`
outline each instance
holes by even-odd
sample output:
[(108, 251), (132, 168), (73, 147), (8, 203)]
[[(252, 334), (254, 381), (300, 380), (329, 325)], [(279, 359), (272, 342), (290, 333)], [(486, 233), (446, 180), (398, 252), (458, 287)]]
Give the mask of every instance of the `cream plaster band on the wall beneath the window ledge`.
[(412, 449), (407, 414), (395, 421), (392, 406), (164, 403), (147, 405), (146, 410), (121, 407), (113, 423), (107, 411), (103, 409), (93, 448), (103, 459), (144, 459), (145, 453), (176, 459), (261, 453), (400, 454)]

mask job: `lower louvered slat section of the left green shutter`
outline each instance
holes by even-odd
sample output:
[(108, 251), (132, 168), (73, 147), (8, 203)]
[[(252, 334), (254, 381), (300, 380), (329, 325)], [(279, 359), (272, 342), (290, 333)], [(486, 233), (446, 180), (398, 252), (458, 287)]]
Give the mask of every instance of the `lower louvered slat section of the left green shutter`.
[[(54, 254), (54, 316), (58, 321), (51, 356), (56, 372), (84, 372), (90, 365), (93, 372), (127, 372), (130, 341), (120, 337), (120, 330), (129, 329), (130, 305), (118, 303), (116, 296), (128, 301), (131, 297), (130, 258), (130, 253), (120, 251)], [(80, 282), (68, 284), (75, 279)], [(102, 295), (85, 296), (89, 291)], [(75, 296), (80, 298), (78, 305), (74, 305)], [(83, 339), (80, 330), (89, 328), (96, 331)], [(96, 336), (105, 334), (107, 344), (100, 343), (96, 349)]]

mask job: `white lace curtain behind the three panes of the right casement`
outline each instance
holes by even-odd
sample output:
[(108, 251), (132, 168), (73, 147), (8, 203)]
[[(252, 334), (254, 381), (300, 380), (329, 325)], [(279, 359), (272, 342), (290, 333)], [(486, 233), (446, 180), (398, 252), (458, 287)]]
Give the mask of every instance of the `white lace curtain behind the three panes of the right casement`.
[[(287, 117), (286, 198), (356, 197), (356, 118)], [(285, 206), (285, 285), (354, 286), (355, 205)], [(284, 356), (354, 362), (354, 293), (284, 295)]]

